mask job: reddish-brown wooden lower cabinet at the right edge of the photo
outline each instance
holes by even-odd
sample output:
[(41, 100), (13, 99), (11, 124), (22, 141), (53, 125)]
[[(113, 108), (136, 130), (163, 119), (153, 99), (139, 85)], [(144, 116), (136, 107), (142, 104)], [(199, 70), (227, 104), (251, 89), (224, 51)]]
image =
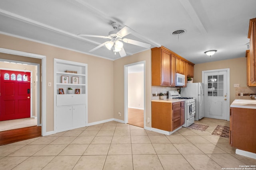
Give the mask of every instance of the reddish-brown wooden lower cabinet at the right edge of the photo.
[(256, 153), (256, 109), (231, 107), (230, 145)]

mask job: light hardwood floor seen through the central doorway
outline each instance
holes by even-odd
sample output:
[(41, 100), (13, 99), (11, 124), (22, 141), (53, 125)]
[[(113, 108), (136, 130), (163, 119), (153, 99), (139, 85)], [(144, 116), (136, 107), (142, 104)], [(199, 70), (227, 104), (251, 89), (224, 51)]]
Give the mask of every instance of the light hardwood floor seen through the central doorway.
[(144, 128), (144, 110), (128, 108), (128, 123)]

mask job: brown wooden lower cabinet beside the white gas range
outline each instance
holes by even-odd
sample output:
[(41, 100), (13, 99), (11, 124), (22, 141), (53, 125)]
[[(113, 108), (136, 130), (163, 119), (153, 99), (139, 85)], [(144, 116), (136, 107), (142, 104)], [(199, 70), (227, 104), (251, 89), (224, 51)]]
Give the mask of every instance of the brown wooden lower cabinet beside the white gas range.
[(174, 131), (184, 124), (181, 124), (184, 122), (184, 102), (151, 102), (151, 104), (153, 128)]

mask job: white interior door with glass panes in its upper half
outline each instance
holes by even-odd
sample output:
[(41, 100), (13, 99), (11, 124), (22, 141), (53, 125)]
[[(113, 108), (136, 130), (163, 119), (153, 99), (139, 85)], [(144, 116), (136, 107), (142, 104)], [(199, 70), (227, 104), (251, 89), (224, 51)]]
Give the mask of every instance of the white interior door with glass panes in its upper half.
[(205, 117), (229, 120), (229, 70), (203, 71), (205, 87)]

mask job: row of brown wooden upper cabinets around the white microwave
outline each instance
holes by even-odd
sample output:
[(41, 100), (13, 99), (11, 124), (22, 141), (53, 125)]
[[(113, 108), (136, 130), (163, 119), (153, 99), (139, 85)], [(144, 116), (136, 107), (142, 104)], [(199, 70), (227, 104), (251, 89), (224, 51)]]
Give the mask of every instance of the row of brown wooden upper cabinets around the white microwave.
[(152, 86), (175, 87), (176, 72), (194, 77), (194, 64), (163, 46), (151, 49)]

